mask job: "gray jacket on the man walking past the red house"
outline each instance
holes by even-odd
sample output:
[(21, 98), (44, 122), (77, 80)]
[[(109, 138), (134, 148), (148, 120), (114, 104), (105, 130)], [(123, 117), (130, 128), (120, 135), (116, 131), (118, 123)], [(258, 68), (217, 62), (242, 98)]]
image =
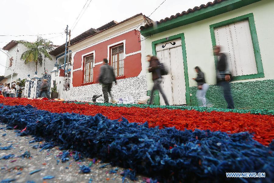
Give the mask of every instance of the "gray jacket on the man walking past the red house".
[(100, 67), (99, 82), (102, 84), (107, 84), (112, 83), (113, 81), (116, 83), (113, 67), (105, 63)]

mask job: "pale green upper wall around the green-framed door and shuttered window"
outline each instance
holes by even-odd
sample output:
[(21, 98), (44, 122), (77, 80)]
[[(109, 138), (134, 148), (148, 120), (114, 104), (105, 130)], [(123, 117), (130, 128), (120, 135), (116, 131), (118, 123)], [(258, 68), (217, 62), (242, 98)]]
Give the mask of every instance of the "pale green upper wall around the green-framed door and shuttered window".
[[(260, 2), (244, 6), (242, 8), (223, 13), (218, 16), (214, 16), (185, 26), (177, 27), (172, 30), (167, 30), (158, 34), (154, 34), (152, 37), (145, 40), (145, 50), (143, 49), (144, 47), (142, 47), (142, 55), (152, 54), (152, 41), (184, 33), (188, 64), (189, 86), (192, 87), (196, 86), (197, 84), (194, 80), (191, 80), (191, 78), (196, 77), (196, 73), (194, 71), (195, 66), (200, 66), (202, 71), (206, 74), (207, 83), (215, 84), (215, 63), (212, 52), (212, 41), (209, 25), (229, 20), (238, 16), (246, 15), (248, 13), (253, 13), (265, 77), (233, 82), (274, 79), (274, 64), (272, 56), (274, 42), (273, 9), (274, 1), (262, 0)], [(151, 81), (151, 74), (148, 74), (147, 77), (148, 81)], [(149, 82), (150, 87), (151, 85), (152, 83)]]

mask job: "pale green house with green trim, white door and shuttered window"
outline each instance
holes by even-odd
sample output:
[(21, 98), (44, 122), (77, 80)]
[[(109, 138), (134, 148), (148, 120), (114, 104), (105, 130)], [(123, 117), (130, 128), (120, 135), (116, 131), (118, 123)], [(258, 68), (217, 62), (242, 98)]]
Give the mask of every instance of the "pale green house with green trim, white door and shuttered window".
[[(163, 88), (171, 105), (198, 105), (195, 66), (210, 84), (207, 98), (226, 108), (216, 84), (213, 46), (221, 45), (233, 75), (231, 90), (238, 109), (273, 109), (274, 1), (218, 0), (141, 27), (142, 53), (156, 55), (169, 69)], [(148, 74), (148, 87), (152, 80)], [(156, 104), (163, 104), (158, 96)]]

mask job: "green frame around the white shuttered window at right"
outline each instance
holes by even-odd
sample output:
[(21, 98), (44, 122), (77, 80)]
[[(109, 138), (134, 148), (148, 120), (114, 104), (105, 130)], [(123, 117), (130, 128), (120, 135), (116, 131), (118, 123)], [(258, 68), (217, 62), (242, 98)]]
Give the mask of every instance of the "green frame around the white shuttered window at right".
[[(254, 55), (255, 55), (255, 61), (257, 66), (257, 72), (258, 74), (249, 74), (249, 75), (243, 75), (243, 76), (234, 76), (233, 80), (244, 80), (244, 79), (253, 79), (253, 78), (260, 78), (265, 77), (264, 70), (262, 66), (262, 58), (261, 58), (261, 52), (255, 27), (255, 21), (254, 21), (254, 15), (253, 13), (249, 13), (247, 15), (238, 16), (236, 18), (232, 18), (230, 20), (225, 20), (219, 23), (215, 23), (209, 26), (210, 34), (211, 34), (211, 40), (212, 40), (212, 46), (216, 46), (216, 39), (214, 34), (214, 29), (218, 27), (223, 27), (232, 23), (237, 23), (243, 20), (248, 20), (249, 27), (250, 27), (250, 33), (251, 33), (251, 39), (254, 49)], [(215, 57), (215, 66), (217, 64), (218, 60)]]

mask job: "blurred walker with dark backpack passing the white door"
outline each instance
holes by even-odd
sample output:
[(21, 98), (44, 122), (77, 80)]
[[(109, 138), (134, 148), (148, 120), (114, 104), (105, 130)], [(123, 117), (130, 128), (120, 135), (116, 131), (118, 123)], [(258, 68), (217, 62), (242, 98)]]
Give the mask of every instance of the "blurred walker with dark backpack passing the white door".
[(153, 80), (153, 83), (154, 83), (153, 88), (150, 92), (150, 101), (149, 101), (148, 104), (149, 105), (152, 104), (152, 101), (153, 101), (153, 98), (154, 98), (154, 95), (153, 95), (154, 91), (159, 90), (159, 92), (161, 93), (161, 95), (162, 95), (162, 97), (165, 101), (165, 104), (167, 106), (169, 106), (167, 97), (164, 94), (163, 88), (161, 86), (163, 79), (162, 79), (162, 76), (160, 74), (160, 68), (159, 68), (160, 62), (159, 62), (159, 60), (157, 59), (156, 56), (147, 55), (146, 59), (149, 62), (149, 69), (148, 70), (149, 70), (150, 73), (152, 73), (152, 80)]

